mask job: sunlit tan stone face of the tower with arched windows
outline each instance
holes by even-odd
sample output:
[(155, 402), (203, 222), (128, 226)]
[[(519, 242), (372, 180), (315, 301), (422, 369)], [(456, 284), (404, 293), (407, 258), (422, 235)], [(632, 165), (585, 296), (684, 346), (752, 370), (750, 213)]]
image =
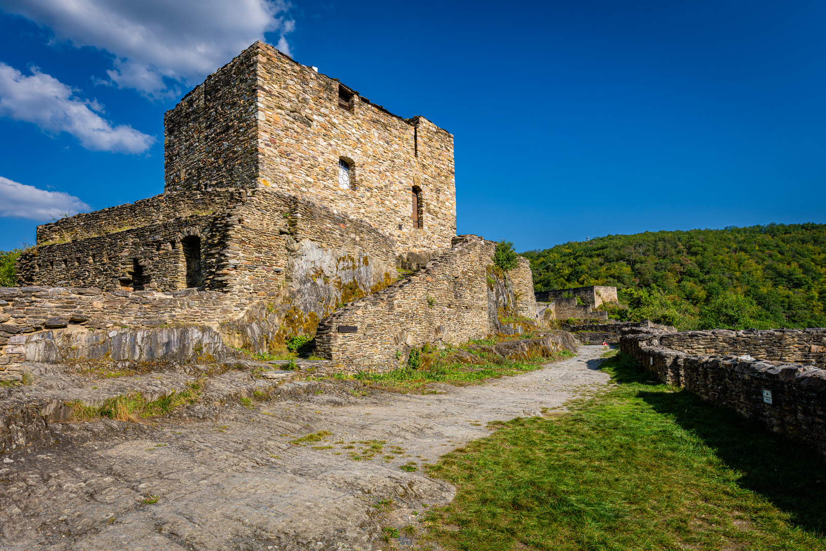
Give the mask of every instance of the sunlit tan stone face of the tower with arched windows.
[[(257, 59), (262, 185), (368, 221), (395, 239), (399, 252), (449, 247), (456, 235), (453, 135), (358, 94), (349, 110), (339, 107), (338, 80), (272, 46), (259, 43)], [(339, 188), (339, 159), (352, 165), (346, 190)], [(411, 217), (414, 186), (421, 188), (420, 228)]]

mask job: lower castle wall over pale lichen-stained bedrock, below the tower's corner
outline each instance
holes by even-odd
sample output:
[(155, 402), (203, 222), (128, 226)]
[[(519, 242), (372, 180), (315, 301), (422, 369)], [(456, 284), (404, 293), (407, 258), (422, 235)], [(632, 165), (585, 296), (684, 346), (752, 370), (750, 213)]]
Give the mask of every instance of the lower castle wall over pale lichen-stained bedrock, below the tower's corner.
[(249, 302), (273, 301), (292, 335), (311, 333), (339, 303), (396, 280), (393, 240), (364, 221), (266, 188), (234, 215), (240, 224), (225, 252), (225, 283)]

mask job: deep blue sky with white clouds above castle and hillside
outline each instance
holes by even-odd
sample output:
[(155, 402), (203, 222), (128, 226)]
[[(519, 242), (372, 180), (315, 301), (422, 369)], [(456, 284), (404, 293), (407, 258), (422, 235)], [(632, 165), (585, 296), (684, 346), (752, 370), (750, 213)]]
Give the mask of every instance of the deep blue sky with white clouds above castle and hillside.
[(459, 233), (826, 222), (824, 23), (807, 0), (0, 0), (0, 249), (163, 192), (164, 111), (259, 39), (452, 132)]

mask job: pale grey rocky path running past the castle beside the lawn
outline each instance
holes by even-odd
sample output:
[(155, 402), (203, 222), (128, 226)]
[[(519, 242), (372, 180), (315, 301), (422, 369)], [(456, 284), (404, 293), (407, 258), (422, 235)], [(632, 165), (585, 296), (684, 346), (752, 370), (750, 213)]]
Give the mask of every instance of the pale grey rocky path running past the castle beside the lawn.
[[(434, 385), (438, 394), (358, 397), (319, 384), (307, 400), (215, 420), (84, 425), (83, 444), (4, 454), (0, 549), (373, 549), (379, 520), (415, 525), (453, 499), (449, 484), (401, 466), (490, 434), (488, 421), (604, 386), (602, 351), (482, 386)], [(289, 444), (321, 430), (330, 437)]]

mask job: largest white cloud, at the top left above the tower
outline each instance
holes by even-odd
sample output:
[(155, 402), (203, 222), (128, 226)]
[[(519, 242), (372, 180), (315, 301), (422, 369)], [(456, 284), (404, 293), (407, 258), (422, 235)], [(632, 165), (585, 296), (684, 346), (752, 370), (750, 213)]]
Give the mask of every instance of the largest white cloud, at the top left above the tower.
[(0, 0), (0, 8), (48, 26), (56, 40), (115, 56), (121, 88), (172, 97), (238, 55), (264, 32), (295, 28), (287, 0)]

